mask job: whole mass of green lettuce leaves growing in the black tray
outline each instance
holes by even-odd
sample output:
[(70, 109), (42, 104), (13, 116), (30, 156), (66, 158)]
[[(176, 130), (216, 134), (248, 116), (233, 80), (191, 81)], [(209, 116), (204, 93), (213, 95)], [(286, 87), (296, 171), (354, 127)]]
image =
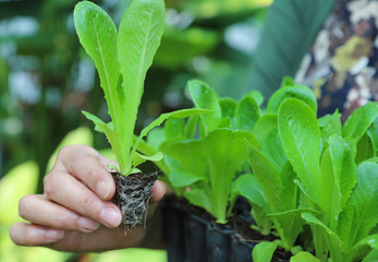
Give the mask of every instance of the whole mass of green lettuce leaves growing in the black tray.
[[(196, 108), (215, 114), (172, 119), (147, 140), (163, 152), (178, 194), (218, 223), (232, 215), (237, 194), (245, 196), (254, 228), (279, 237), (258, 245), (254, 261), (270, 260), (277, 247), (293, 254), (313, 248), (319, 261), (374, 258), (377, 103), (357, 109), (342, 127), (338, 111), (317, 119), (313, 92), (288, 79), (266, 111), (256, 93), (239, 102), (220, 98), (200, 81), (188, 82), (188, 93)], [(312, 240), (294, 247), (304, 225)], [(293, 260), (300, 258), (312, 254), (301, 251)]]

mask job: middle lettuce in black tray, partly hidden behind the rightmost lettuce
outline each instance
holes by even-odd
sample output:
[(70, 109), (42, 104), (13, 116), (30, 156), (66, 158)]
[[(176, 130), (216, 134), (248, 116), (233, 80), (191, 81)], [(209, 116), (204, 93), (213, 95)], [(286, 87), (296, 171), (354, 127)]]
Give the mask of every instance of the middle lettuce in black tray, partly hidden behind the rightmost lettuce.
[[(313, 92), (302, 85), (294, 85), (290, 79), (282, 82), (268, 102), (267, 114), (258, 119), (252, 133), (258, 141), (258, 146), (249, 145), (248, 159), (253, 174), (241, 176), (236, 180), (237, 192), (246, 198), (252, 205), (252, 215), (263, 235), (273, 234), (279, 237), (275, 245), (264, 243), (264, 250), (271, 255), (277, 247), (286, 251), (293, 249), (297, 236), (303, 230), (304, 212), (316, 213), (312, 207), (300, 204), (303, 198), (298, 186), (294, 182), (296, 175), (288, 160), (279, 132), (279, 108), (288, 97), (296, 97), (310, 105), (307, 117), (316, 120), (316, 98)], [(298, 109), (298, 108), (295, 108)], [(298, 111), (303, 112), (303, 111)], [(267, 250), (267, 249), (271, 250)], [(263, 261), (260, 248), (254, 250), (254, 261)], [(268, 260), (271, 259), (265, 254)]]

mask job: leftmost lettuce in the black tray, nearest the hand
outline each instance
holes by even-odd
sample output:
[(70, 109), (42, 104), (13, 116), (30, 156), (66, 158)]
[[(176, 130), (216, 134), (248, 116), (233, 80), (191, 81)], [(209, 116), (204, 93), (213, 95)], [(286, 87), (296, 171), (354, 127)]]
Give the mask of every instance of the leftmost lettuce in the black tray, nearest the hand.
[(248, 130), (260, 115), (254, 97), (258, 103), (261, 97), (253, 92), (240, 102), (220, 98), (197, 80), (188, 82), (188, 93), (196, 108), (214, 114), (193, 116), (187, 122), (170, 119), (147, 141), (163, 152), (163, 171), (175, 193), (227, 223), (236, 196), (230, 184), (247, 160), (245, 141), (257, 143)]

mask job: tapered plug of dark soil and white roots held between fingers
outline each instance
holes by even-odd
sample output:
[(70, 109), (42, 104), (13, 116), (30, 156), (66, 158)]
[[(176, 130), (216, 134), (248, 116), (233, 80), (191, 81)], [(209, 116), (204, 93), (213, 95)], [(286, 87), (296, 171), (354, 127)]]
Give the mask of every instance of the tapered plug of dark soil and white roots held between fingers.
[(148, 201), (151, 196), (156, 172), (132, 174), (127, 177), (112, 172), (115, 181), (114, 204), (122, 212), (125, 234), (136, 225), (146, 225)]

